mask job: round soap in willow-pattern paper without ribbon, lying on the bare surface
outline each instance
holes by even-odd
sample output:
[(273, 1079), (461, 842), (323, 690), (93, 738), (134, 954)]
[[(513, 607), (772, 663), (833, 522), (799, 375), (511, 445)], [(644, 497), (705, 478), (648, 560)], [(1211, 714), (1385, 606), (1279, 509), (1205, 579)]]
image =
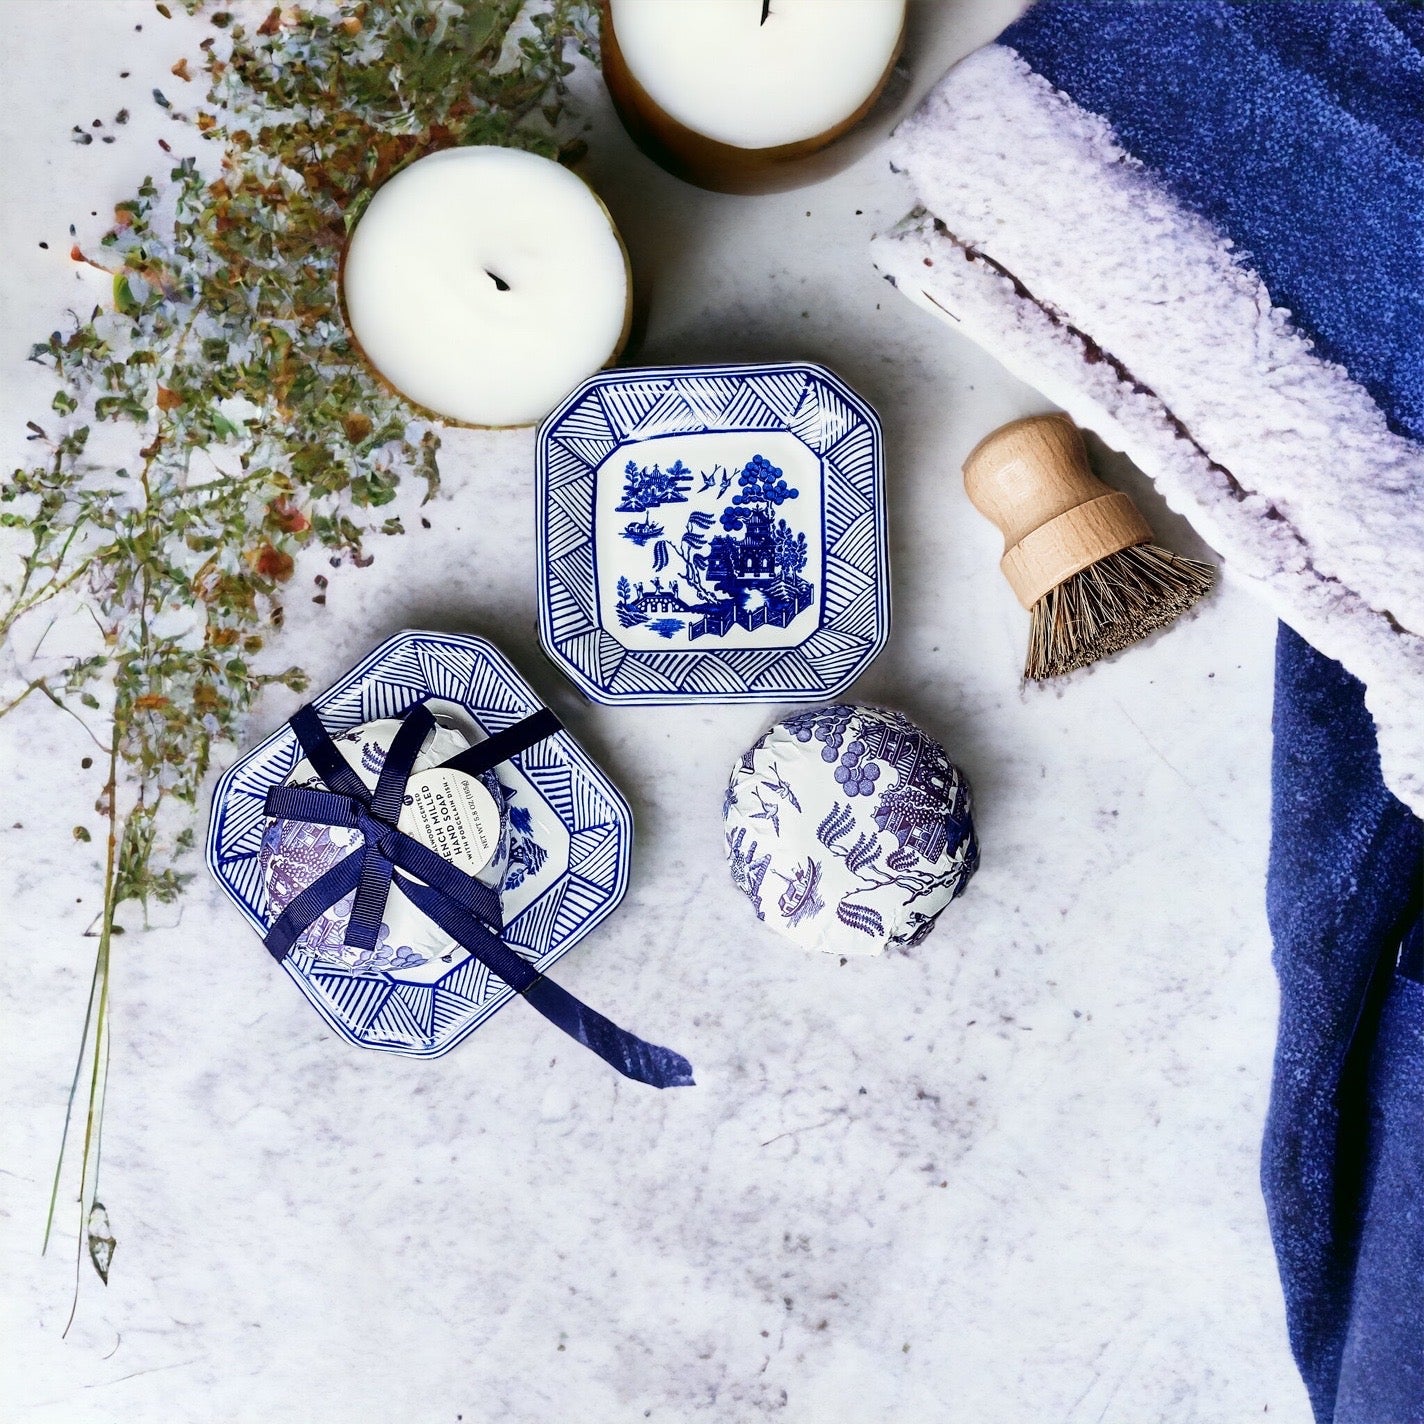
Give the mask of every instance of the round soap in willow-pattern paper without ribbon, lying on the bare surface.
[(829, 954), (918, 944), (978, 869), (963, 772), (881, 708), (778, 722), (732, 769), (723, 819), (758, 918)]

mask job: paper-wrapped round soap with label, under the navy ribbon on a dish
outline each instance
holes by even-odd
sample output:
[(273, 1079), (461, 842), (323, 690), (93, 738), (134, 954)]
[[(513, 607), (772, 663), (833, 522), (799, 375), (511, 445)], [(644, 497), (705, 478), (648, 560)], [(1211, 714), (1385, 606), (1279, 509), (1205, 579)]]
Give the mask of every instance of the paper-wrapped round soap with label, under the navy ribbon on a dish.
[[(383, 718), (340, 732), (332, 742), (352, 770), (375, 790), (386, 752), (399, 731), (399, 721)], [(466, 874), (500, 889), (510, 853), (507, 800), (500, 783), (493, 772), (470, 776), (440, 765), (468, 746), (470, 739), (460, 729), (436, 722), (406, 782), (397, 824)], [(298, 762), (286, 785), (330, 789), (308, 760)], [(360, 847), (362, 833), (355, 829), (305, 820), (269, 820), (259, 859), (272, 918)], [(346, 944), (355, 903), (355, 891), (337, 900), (302, 931), (298, 947), (326, 964), (363, 971), (413, 970), (430, 963), (444, 967), (451, 961), (456, 941), (426, 918), (397, 884), (386, 896), (376, 947), (363, 951)], [(463, 957), (464, 951), (460, 953)]]

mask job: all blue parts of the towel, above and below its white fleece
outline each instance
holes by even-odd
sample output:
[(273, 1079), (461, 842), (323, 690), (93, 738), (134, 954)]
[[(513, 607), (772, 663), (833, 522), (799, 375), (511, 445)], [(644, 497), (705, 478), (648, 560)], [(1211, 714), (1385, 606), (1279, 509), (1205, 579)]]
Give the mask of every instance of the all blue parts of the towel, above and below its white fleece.
[[(1424, 440), (1424, 6), (1041, 0), (1000, 43)], [(1424, 827), (1361, 685), (1284, 627), (1274, 736), (1262, 1186), (1292, 1347), (1320, 1424), (1424, 1424)]]

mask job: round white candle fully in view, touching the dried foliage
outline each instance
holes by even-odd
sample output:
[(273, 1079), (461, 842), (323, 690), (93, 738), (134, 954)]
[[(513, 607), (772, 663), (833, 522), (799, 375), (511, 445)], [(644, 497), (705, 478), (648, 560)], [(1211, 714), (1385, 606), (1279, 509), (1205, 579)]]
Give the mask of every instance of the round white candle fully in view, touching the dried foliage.
[(592, 189), (514, 148), (447, 148), (386, 182), (346, 248), (366, 360), (471, 426), (541, 420), (622, 349), (628, 259)]

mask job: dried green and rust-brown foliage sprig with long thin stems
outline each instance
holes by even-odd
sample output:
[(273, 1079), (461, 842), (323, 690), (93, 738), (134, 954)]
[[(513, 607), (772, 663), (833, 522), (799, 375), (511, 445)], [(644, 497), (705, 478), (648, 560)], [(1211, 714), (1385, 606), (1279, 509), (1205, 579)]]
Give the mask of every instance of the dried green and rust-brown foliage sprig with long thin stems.
[(68, 1141), (80, 1101), (81, 1250), (101, 1276), (107, 1216), (98, 1235), (85, 1223), (103, 1216), (115, 914), (181, 893), (215, 746), (241, 740), (262, 688), (306, 685), (299, 668), (259, 659), (296, 555), (320, 545), (335, 567), (370, 562), (369, 535), (403, 533), (382, 508), (412, 478), (427, 497), (439, 481), (437, 430), (347, 336), (346, 235), (386, 178), (439, 148), (575, 159), (561, 137), (567, 56), (588, 53), (592, 36), (584, 0), (367, 0), (248, 20), (202, 0), (189, 9), (214, 27), (205, 94), (188, 112), (154, 100), (194, 154), (118, 204), (97, 252), (71, 253), (111, 278), (112, 299), (34, 346), (54, 399), (30, 423), (36, 459), (0, 487), (0, 523), (20, 550), (0, 638), (34, 646), (56, 619), (93, 624), (90, 648), (0, 715), (40, 693), (105, 753), (104, 910), (66, 1119)]

